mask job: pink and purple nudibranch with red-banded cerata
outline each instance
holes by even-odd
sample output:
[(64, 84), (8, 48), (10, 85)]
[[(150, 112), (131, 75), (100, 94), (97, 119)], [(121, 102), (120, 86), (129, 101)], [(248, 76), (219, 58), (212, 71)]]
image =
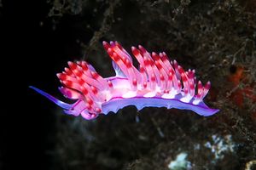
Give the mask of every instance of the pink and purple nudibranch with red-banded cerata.
[(109, 57), (113, 59), (115, 77), (101, 77), (92, 65), (85, 61), (68, 62), (68, 67), (57, 74), (67, 99), (76, 100), (67, 104), (30, 87), (61, 106), (68, 115), (94, 119), (100, 114), (116, 113), (127, 105), (137, 110), (144, 107), (166, 107), (195, 111), (201, 116), (211, 116), (218, 109), (211, 109), (203, 102), (210, 89), (210, 82), (202, 85), (195, 78), (195, 70), (184, 71), (176, 60), (170, 61), (165, 52), (156, 54), (139, 45), (131, 47), (138, 61), (137, 69), (124, 48), (118, 42), (103, 42)]

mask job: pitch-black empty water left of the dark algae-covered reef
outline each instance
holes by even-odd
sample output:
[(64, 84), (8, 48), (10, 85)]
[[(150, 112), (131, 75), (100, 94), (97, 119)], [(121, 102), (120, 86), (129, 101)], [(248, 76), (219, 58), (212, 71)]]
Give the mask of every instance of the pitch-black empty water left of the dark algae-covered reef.
[(53, 148), (48, 138), (55, 122), (49, 111), (55, 106), (28, 86), (57, 93), (55, 72), (70, 58), (71, 48), (76, 51), (67, 43), (73, 38), (68, 33), (72, 32), (70, 23), (64, 20), (66, 26), (53, 31), (45, 1), (3, 1), (1, 9), (0, 169), (48, 169), (50, 158), (45, 150)]

